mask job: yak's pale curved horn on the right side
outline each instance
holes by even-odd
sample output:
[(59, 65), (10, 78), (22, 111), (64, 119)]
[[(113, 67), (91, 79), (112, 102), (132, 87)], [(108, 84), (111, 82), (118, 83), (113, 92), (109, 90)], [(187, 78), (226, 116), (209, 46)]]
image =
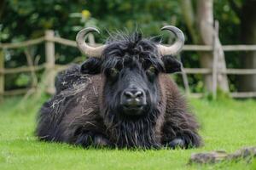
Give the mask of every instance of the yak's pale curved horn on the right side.
[(157, 45), (160, 54), (161, 55), (175, 55), (178, 54), (181, 49), (183, 48), (184, 42), (185, 42), (185, 37), (183, 34), (183, 31), (181, 31), (180, 29), (178, 29), (175, 26), (164, 26), (161, 28), (161, 31), (164, 30), (168, 30), (168, 31), (172, 31), (172, 33), (174, 33), (174, 35), (176, 36), (176, 41), (169, 47), (164, 46), (164, 45)]

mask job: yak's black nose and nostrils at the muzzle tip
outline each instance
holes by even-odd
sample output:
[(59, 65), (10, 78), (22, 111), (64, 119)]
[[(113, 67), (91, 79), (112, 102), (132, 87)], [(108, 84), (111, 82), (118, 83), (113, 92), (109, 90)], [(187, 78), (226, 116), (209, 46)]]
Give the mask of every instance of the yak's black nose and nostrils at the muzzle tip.
[(126, 107), (137, 108), (145, 105), (145, 95), (140, 88), (125, 89), (122, 95), (122, 104)]

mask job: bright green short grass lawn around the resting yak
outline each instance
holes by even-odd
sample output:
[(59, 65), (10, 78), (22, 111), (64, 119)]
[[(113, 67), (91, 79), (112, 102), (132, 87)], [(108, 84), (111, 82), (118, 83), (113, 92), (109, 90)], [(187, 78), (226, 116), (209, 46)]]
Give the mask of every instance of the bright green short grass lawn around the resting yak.
[(205, 145), (191, 150), (83, 149), (39, 142), (33, 131), (44, 99), (0, 105), (0, 169), (256, 169), (256, 160), (187, 165), (191, 153), (256, 145), (256, 101), (190, 99)]

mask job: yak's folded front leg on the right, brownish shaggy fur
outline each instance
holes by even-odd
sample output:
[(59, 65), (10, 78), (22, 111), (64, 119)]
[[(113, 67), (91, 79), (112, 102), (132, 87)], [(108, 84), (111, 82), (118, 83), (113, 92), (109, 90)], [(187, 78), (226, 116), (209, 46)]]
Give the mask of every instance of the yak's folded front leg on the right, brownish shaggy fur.
[(195, 116), (189, 113), (185, 100), (179, 94), (172, 94), (172, 100), (167, 102), (162, 144), (172, 149), (198, 147), (201, 145), (198, 128)]

